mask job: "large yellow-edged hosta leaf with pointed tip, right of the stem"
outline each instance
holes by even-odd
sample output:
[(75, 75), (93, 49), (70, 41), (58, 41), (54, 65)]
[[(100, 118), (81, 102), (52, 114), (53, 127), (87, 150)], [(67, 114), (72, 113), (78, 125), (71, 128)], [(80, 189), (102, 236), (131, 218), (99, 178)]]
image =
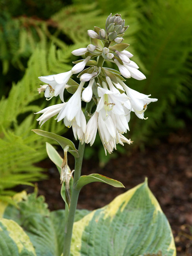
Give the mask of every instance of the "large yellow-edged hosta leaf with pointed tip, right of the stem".
[(147, 181), (74, 223), (72, 256), (175, 256), (172, 231)]

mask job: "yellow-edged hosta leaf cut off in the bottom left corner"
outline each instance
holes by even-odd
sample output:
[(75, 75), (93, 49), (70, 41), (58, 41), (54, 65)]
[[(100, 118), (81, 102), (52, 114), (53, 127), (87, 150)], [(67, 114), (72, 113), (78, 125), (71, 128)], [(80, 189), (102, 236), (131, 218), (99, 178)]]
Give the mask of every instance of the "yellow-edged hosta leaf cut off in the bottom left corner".
[(0, 218), (0, 255), (36, 256), (29, 236), (10, 219)]

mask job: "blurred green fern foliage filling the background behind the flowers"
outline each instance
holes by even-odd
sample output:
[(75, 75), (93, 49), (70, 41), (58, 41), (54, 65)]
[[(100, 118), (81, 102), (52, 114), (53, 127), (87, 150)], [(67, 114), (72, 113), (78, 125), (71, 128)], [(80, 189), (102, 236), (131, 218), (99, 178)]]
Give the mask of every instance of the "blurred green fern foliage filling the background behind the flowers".
[[(36, 163), (46, 158), (43, 137), (34, 112), (59, 99), (46, 102), (38, 95), (38, 76), (71, 69), (74, 49), (89, 44), (87, 30), (105, 27), (106, 17), (121, 13), (129, 25), (124, 42), (147, 79), (128, 79), (127, 84), (158, 102), (148, 106), (147, 120), (133, 114), (128, 137), (134, 146), (160, 143), (163, 136), (185, 127), (192, 119), (192, 2), (188, 0), (0, 0), (0, 199), (10, 200), (17, 184), (45, 178)], [(54, 118), (42, 127), (63, 135), (63, 123)], [(67, 133), (68, 137), (72, 133)], [(128, 154), (133, 147), (118, 147)], [(99, 138), (86, 147), (86, 158), (98, 155), (100, 165), (108, 157)]]

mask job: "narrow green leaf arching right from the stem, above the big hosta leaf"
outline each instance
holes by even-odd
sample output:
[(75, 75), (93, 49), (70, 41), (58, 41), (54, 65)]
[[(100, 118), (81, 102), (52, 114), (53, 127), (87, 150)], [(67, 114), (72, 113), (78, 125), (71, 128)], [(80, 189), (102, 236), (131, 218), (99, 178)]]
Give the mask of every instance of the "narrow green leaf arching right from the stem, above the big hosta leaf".
[(98, 173), (80, 176), (79, 180), (76, 182), (76, 184), (74, 184), (74, 186), (75, 189), (80, 190), (84, 185), (87, 185), (91, 182), (103, 182), (116, 188), (124, 188), (124, 185), (120, 181), (113, 180)]

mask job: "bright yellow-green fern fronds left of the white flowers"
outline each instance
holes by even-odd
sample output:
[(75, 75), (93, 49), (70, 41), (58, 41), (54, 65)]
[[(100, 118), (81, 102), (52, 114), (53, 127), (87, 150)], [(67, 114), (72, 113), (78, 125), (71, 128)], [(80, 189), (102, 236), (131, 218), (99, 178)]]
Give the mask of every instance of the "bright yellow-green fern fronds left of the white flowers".
[[(42, 49), (41, 46), (37, 47), (29, 60), (23, 79), (12, 86), (8, 98), (0, 101), (0, 115), (4, 117), (0, 120), (1, 194), (6, 195), (4, 189), (45, 178), (42, 174), (43, 169), (33, 164), (46, 158), (47, 139), (31, 132), (31, 129), (38, 128), (37, 116), (28, 113), (37, 112), (50, 105), (50, 101), (39, 104), (38, 99), (44, 95), (39, 96), (37, 92), (40, 84), (38, 76), (69, 70), (71, 66), (67, 63), (71, 51), (80, 46), (82, 45), (66, 46), (62, 50), (56, 50), (53, 44), (48, 50)], [(53, 98), (51, 103), (60, 103), (60, 99)], [(21, 114), (25, 117), (23, 121)], [(54, 118), (47, 121), (43, 129), (59, 134), (66, 131), (63, 122), (57, 123)]]

